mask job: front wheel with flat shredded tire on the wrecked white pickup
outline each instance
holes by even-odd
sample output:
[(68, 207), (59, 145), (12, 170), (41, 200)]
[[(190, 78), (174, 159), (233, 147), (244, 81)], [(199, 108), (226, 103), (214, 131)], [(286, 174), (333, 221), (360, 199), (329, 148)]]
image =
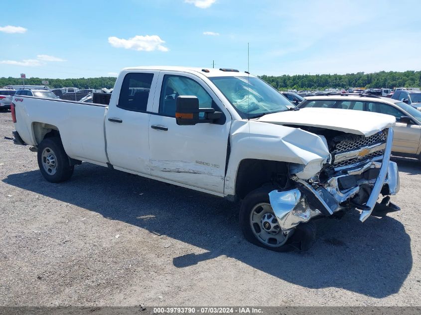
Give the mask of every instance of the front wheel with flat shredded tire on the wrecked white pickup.
[(300, 223), (285, 234), (272, 209), (269, 193), (273, 187), (261, 187), (250, 192), (240, 208), (240, 226), (244, 237), (251, 243), (278, 252), (292, 249), (308, 250), (315, 241), (312, 221)]

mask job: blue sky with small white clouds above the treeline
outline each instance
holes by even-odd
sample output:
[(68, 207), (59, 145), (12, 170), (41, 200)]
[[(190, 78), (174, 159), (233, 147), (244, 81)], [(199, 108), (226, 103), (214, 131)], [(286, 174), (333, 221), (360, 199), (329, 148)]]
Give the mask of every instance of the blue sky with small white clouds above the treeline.
[(0, 77), (213, 60), (246, 70), (247, 43), (256, 75), (421, 70), (419, 0), (37, 0), (1, 12)]

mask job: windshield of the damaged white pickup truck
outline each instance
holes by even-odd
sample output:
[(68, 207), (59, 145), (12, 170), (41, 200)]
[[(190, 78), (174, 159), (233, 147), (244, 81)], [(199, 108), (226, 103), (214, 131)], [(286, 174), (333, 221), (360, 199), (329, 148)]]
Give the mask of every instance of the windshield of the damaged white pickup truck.
[(209, 79), (242, 118), (259, 117), (294, 107), (272, 86), (256, 77), (214, 77)]

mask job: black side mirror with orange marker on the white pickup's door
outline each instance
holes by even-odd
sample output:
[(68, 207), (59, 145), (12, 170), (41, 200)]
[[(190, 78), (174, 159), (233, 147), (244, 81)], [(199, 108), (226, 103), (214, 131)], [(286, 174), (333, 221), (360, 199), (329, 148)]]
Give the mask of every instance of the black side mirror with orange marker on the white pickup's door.
[[(199, 113), (203, 112), (203, 118)], [(214, 108), (199, 108), (199, 99), (195, 96), (178, 96), (175, 103), (175, 120), (177, 125), (195, 125), (196, 123), (214, 122), (222, 117), (222, 112)]]

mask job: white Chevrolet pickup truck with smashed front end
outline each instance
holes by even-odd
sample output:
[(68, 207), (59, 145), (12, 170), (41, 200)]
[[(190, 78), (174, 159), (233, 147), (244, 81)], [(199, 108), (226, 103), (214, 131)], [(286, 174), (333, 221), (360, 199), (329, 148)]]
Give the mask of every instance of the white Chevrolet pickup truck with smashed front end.
[(272, 250), (309, 248), (316, 217), (399, 210), (393, 116), (298, 110), (247, 72), (127, 68), (109, 105), (19, 96), (11, 113), (47, 181), (85, 161), (242, 200), (245, 237)]

